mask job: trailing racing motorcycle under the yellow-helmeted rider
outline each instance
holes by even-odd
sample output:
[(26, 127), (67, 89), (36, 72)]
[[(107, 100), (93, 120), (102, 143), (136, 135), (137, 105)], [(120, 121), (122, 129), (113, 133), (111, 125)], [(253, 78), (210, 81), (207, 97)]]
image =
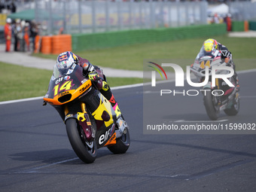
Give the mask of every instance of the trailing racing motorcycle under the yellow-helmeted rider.
[[(211, 120), (217, 120), (221, 111), (233, 116), (239, 112), (239, 89), (235, 87), (236, 81), (233, 77), (227, 78), (234, 87), (230, 87), (222, 78), (215, 78), (215, 87), (212, 87), (212, 69), (215, 66), (230, 66), (221, 58), (221, 53), (206, 53), (203, 49), (198, 53), (194, 64), (190, 67), (199, 82), (205, 81), (206, 69), (209, 72), (209, 81), (203, 86), (203, 103)], [(217, 68), (216, 68), (217, 69)], [(229, 70), (215, 70), (216, 75), (227, 75)], [(213, 80), (214, 81), (214, 80)]]

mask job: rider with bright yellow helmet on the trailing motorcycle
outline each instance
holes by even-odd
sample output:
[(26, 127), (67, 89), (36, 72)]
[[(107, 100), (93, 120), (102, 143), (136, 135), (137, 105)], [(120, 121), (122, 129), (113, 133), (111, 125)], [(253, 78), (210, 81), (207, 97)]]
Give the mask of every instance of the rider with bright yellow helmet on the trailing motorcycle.
[(215, 39), (209, 38), (203, 42), (203, 48), (204, 48), (204, 50), (206, 50), (206, 52), (215, 52), (215, 50), (219, 50), (221, 52), (221, 58), (224, 59), (224, 62), (226, 62), (227, 65), (233, 67), (233, 70), (234, 70), (233, 78), (236, 81), (236, 89), (239, 90), (238, 77), (236, 74), (236, 66), (233, 63), (232, 54), (227, 49), (227, 47), (224, 46), (223, 44), (220, 44)]

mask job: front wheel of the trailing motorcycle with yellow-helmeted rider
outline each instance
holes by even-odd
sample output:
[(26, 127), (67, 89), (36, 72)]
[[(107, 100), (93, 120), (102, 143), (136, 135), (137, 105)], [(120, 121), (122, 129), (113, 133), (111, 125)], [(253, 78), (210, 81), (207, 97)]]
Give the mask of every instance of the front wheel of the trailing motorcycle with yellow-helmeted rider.
[(203, 96), (203, 103), (205, 105), (206, 112), (211, 120), (217, 120), (220, 113), (217, 98), (212, 95), (212, 91), (205, 91), (204, 93), (206, 94)]

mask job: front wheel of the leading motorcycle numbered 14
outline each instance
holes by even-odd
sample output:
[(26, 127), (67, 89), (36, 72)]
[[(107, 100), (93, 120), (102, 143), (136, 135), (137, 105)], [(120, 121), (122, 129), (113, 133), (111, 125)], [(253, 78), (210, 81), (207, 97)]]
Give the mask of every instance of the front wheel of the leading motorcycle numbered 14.
[(84, 163), (93, 163), (97, 155), (96, 142), (87, 142), (84, 130), (78, 125), (75, 118), (66, 120), (66, 131), (75, 154), (77, 154)]

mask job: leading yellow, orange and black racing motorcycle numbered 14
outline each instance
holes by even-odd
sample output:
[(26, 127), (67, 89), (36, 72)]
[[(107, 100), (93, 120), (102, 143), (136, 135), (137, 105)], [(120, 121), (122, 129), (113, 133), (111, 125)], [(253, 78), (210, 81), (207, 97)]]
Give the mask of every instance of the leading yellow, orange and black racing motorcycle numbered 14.
[(55, 65), (44, 105), (49, 103), (59, 112), (75, 154), (84, 163), (93, 163), (102, 147), (125, 153), (130, 133), (123, 114), (117, 119), (111, 103), (82, 71), (76, 64), (65, 70)]

